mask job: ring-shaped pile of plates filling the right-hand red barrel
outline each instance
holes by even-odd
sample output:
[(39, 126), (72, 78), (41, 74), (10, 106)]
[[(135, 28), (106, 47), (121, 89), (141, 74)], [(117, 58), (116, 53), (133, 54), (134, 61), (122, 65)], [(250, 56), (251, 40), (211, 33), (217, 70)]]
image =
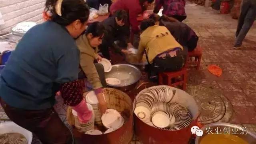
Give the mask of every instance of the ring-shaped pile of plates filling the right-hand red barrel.
[(134, 113), (150, 126), (165, 130), (180, 130), (190, 125), (191, 114), (177, 103), (178, 93), (170, 86), (155, 86), (136, 96)]

